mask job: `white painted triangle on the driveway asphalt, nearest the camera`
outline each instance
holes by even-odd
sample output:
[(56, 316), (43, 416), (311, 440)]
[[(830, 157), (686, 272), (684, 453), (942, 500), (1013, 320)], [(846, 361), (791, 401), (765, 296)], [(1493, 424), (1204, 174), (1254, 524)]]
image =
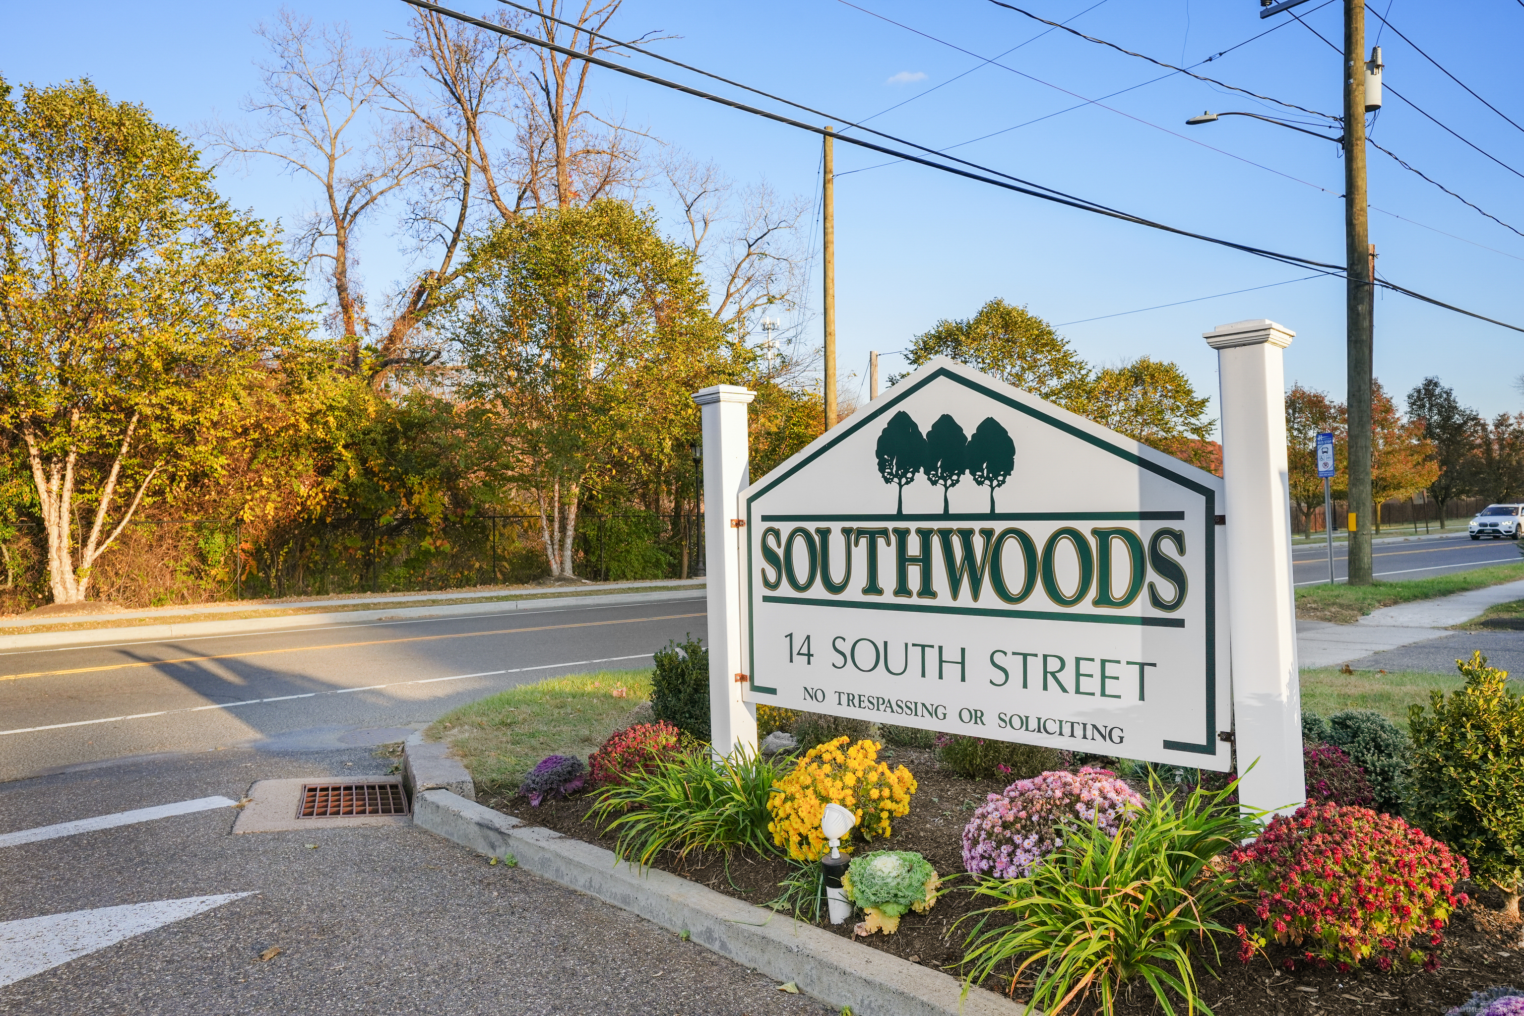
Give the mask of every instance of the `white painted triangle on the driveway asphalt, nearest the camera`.
[(253, 893), (126, 903), (0, 923), (0, 986), (15, 984), (70, 960), (245, 896)]

